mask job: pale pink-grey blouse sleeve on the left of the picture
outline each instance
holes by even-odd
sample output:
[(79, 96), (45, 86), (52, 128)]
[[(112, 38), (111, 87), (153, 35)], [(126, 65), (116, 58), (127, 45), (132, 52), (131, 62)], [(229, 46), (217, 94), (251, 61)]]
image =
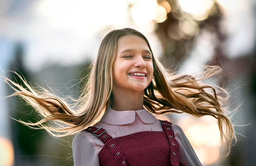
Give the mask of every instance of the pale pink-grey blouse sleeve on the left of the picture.
[(79, 133), (72, 141), (74, 166), (99, 166), (99, 150), (86, 133)]

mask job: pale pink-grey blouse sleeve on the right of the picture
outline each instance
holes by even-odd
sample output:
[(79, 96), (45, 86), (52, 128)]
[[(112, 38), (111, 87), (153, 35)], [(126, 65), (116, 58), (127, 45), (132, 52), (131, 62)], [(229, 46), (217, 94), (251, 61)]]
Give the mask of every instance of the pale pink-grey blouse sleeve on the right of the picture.
[(180, 126), (173, 124), (175, 139), (179, 143), (180, 163), (185, 166), (202, 166), (188, 138)]

